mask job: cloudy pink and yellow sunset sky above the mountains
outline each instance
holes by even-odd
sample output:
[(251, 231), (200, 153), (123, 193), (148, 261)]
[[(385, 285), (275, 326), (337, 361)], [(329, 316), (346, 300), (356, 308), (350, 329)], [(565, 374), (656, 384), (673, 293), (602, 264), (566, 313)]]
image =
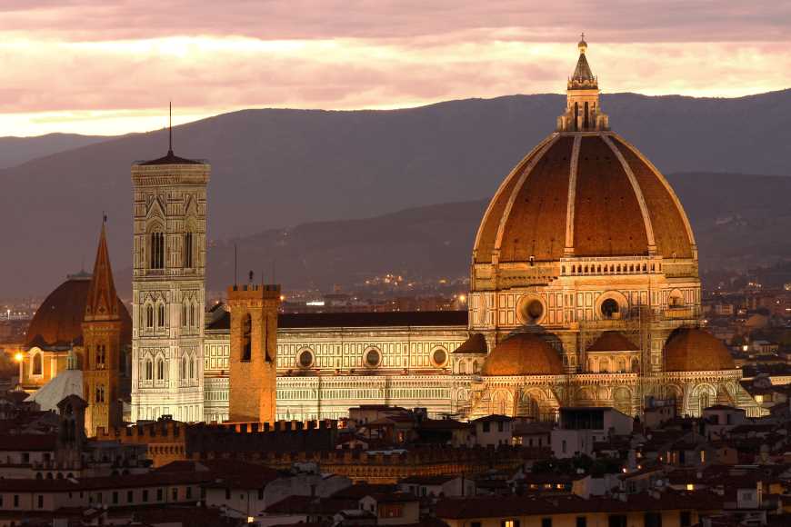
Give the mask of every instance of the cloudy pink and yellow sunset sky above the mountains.
[(0, 0), (0, 135), (124, 134), (252, 107), (388, 109), (791, 85), (777, 0)]

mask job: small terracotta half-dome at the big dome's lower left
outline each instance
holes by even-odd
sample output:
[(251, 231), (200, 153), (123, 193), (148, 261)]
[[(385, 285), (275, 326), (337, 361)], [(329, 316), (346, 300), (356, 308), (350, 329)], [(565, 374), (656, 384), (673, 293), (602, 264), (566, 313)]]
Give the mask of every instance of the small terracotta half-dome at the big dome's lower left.
[(486, 357), (482, 375), (560, 375), (563, 363), (555, 349), (531, 333), (516, 333)]

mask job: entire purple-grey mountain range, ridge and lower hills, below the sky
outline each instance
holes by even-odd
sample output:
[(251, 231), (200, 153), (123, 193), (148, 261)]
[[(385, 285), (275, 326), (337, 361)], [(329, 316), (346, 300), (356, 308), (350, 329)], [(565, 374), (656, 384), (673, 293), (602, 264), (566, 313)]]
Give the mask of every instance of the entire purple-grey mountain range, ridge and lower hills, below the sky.
[[(429, 260), (444, 265), (445, 254), (453, 253), (447, 247), (456, 244), (455, 267), (445, 273), (465, 272), (483, 207), (476, 200), (491, 196), (513, 165), (554, 130), (564, 103), (562, 95), (538, 94), (392, 111), (245, 110), (175, 127), (175, 153), (212, 164), (210, 286), (226, 282), (219, 277), (227, 275), (222, 262), (230, 239), (258, 252), (255, 265), (276, 258), (278, 268), (293, 267), (285, 256), (268, 254), (272, 236), (283, 233), (291, 246), (304, 240), (295, 257), (313, 269), (295, 282), (279, 273), (286, 287), (325, 285), (321, 275), (329, 269), (359, 276), (367, 272), (360, 264), (365, 261), (410, 269)], [(791, 179), (734, 175), (791, 173), (791, 90), (736, 99), (606, 94), (602, 105), (612, 127), (660, 170), (700, 173), (671, 180), (696, 224), (701, 251), (706, 229), (725, 229), (734, 253), (728, 262), (745, 260), (742, 254), (755, 260), (764, 255), (757, 251), (771, 247), (764, 233), (791, 227), (787, 204), (776, 203), (789, 195)], [(115, 268), (124, 273), (131, 253), (130, 164), (166, 149), (167, 134), (159, 130), (50, 151), (0, 170), (6, 220), (0, 296), (45, 293), (65, 273), (89, 267), (103, 212), (110, 218)], [(8, 163), (0, 156), (0, 165)], [(746, 191), (756, 194), (750, 204)], [(428, 206), (435, 204), (448, 205)], [(411, 211), (397, 213), (405, 209)], [(398, 223), (409, 214), (417, 218), (411, 226)], [(697, 224), (697, 216), (706, 220)], [(395, 223), (386, 231), (349, 224), (340, 224), (340, 233), (332, 230), (336, 221), (373, 217)], [(406, 239), (415, 233), (442, 245), (427, 253), (426, 244)], [(355, 252), (337, 243), (341, 234), (360, 237)], [(315, 256), (308, 257), (311, 251)]]

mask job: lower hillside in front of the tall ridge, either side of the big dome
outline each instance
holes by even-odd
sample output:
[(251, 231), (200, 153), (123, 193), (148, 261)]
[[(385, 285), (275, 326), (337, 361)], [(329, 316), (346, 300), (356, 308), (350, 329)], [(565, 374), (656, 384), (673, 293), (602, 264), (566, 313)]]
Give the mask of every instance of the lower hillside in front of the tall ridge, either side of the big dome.
[[(747, 268), (791, 260), (791, 178), (742, 174), (668, 176), (690, 214), (701, 269)], [(733, 194), (731, 194), (733, 193)], [(209, 253), (209, 287), (233, 279), (234, 243), (239, 269), (270, 275), (286, 287), (360, 283), (384, 273), (411, 278), (469, 273), (476, 229), (486, 200), (436, 204), (365, 220), (301, 224), (215, 244)], [(791, 279), (791, 278), (789, 278)]]

